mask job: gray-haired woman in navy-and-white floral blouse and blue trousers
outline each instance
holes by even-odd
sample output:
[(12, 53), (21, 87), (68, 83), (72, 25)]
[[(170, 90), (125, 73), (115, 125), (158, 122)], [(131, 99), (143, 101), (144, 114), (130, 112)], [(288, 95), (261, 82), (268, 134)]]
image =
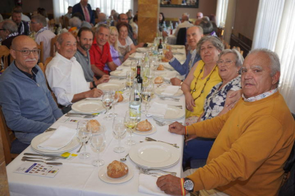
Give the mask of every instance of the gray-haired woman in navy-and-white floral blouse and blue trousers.
[[(230, 107), (224, 107), (228, 104), (229, 96), (232, 92), (237, 92), (241, 89), (241, 76), (239, 69), (242, 67), (244, 58), (237, 50), (223, 50), (219, 55), (217, 66), (222, 82), (215, 85), (211, 92), (206, 97), (204, 104), (204, 113), (198, 121), (205, 121), (212, 119), (214, 116), (219, 116), (227, 113), (235, 104)], [(240, 96), (237, 95), (237, 98)], [(236, 97), (235, 97), (236, 99)], [(187, 140), (187, 145), (183, 151), (183, 168), (190, 164), (190, 160), (194, 161), (194, 168), (205, 165), (209, 151), (214, 143), (214, 139), (209, 138), (195, 138), (191, 136)]]

